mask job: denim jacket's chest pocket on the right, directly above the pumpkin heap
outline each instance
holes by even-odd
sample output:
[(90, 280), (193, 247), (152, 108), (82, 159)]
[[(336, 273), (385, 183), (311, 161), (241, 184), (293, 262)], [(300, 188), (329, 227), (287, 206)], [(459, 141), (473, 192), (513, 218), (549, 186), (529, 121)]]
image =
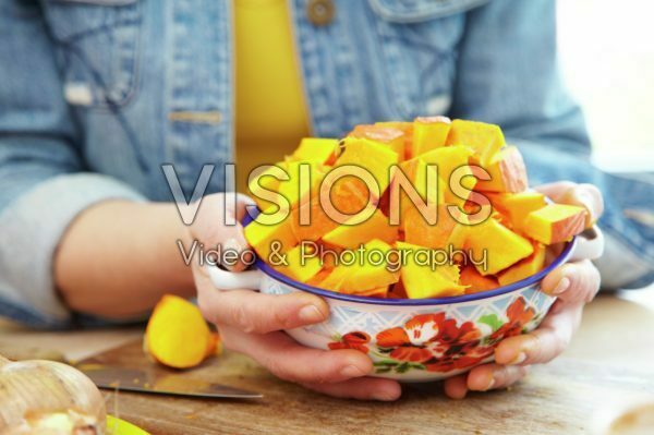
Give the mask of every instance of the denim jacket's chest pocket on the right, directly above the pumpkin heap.
[(389, 105), (398, 117), (447, 114), (464, 12), (489, 0), (368, 0), (375, 23)]

